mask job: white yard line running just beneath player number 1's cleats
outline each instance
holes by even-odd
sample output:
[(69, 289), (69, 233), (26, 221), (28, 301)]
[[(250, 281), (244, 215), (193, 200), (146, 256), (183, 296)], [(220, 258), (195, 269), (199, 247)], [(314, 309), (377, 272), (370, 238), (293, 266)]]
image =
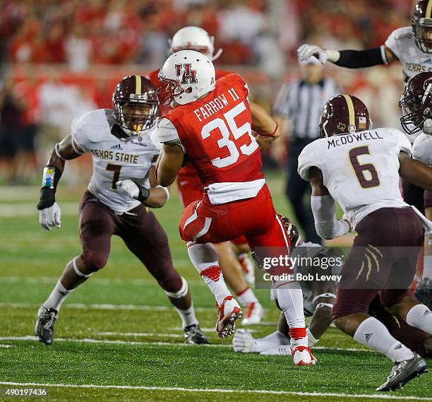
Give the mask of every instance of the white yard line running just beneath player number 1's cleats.
[[(102, 334), (103, 332), (101, 332)], [(116, 332), (112, 332), (113, 334)], [(110, 332), (105, 332), (105, 334), (110, 334)], [(121, 333), (116, 333), (121, 335)], [(152, 335), (164, 335), (154, 333)], [(0, 341), (37, 341), (37, 338), (33, 335), (25, 336), (0, 336)], [(171, 343), (171, 342), (141, 342), (141, 341), (121, 341), (116, 339), (92, 339), (92, 338), (56, 338), (55, 342), (74, 342), (74, 343), (106, 343), (108, 345), (171, 345), (171, 346), (186, 346), (186, 347), (196, 347), (196, 345), (189, 345), (188, 343)], [(231, 343), (229, 344), (210, 344), (203, 345), (206, 348), (232, 348)], [(336, 350), (339, 352), (368, 352), (377, 353), (375, 350), (364, 349), (364, 348), (327, 348), (325, 346), (316, 346), (313, 350)]]

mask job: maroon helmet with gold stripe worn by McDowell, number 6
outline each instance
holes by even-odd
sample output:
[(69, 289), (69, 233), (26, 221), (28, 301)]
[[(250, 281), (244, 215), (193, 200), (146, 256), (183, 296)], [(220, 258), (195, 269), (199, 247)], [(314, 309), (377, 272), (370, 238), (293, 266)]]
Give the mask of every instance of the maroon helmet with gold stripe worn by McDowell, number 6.
[(344, 94), (328, 100), (319, 125), (320, 134), (325, 138), (371, 129), (372, 122), (366, 105), (358, 97)]

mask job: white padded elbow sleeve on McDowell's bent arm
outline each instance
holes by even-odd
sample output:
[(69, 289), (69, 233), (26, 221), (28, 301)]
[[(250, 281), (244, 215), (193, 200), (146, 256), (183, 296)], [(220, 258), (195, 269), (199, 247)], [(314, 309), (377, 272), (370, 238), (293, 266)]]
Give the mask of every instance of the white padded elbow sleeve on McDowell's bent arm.
[(311, 196), (311, 208), (319, 237), (332, 240), (349, 232), (348, 223), (335, 219), (335, 200), (332, 196)]

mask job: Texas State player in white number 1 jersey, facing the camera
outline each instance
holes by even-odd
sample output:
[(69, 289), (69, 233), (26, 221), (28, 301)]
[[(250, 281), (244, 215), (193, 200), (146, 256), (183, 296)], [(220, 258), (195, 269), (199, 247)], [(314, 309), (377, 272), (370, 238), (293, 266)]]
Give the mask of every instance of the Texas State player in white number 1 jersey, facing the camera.
[(35, 333), (51, 345), (54, 323), (66, 297), (107, 263), (112, 235), (148, 268), (181, 317), (186, 343), (208, 343), (196, 319), (188, 283), (172, 265), (167, 235), (148, 208), (160, 208), (168, 189), (157, 185), (155, 162), (160, 146), (157, 93), (147, 78), (127, 76), (117, 85), (111, 109), (93, 110), (72, 122), (71, 135), (57, 143), (44, 167), (40, 225), (60, 227), (56, 187), (66, 160), (91, 153), (93, 173), (80, 202), (80, 241), (83, 252), (64, 269), (54, 290), (37, 313)]

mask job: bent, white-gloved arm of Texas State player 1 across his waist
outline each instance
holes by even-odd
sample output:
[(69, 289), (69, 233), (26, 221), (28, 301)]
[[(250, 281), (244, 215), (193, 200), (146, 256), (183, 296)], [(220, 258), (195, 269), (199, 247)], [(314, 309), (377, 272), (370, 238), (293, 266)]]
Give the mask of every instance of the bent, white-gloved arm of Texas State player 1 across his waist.
[(156, 180), (155, 167), (151, 167), (148, 172), (150, 189), (143, 187), (131, 179), (119, 180), (116, 186), (120, 191), (130, 197), (143, 203), (149, 208), (162, 208), (169, 200), (169, 189), (162, 187)]

